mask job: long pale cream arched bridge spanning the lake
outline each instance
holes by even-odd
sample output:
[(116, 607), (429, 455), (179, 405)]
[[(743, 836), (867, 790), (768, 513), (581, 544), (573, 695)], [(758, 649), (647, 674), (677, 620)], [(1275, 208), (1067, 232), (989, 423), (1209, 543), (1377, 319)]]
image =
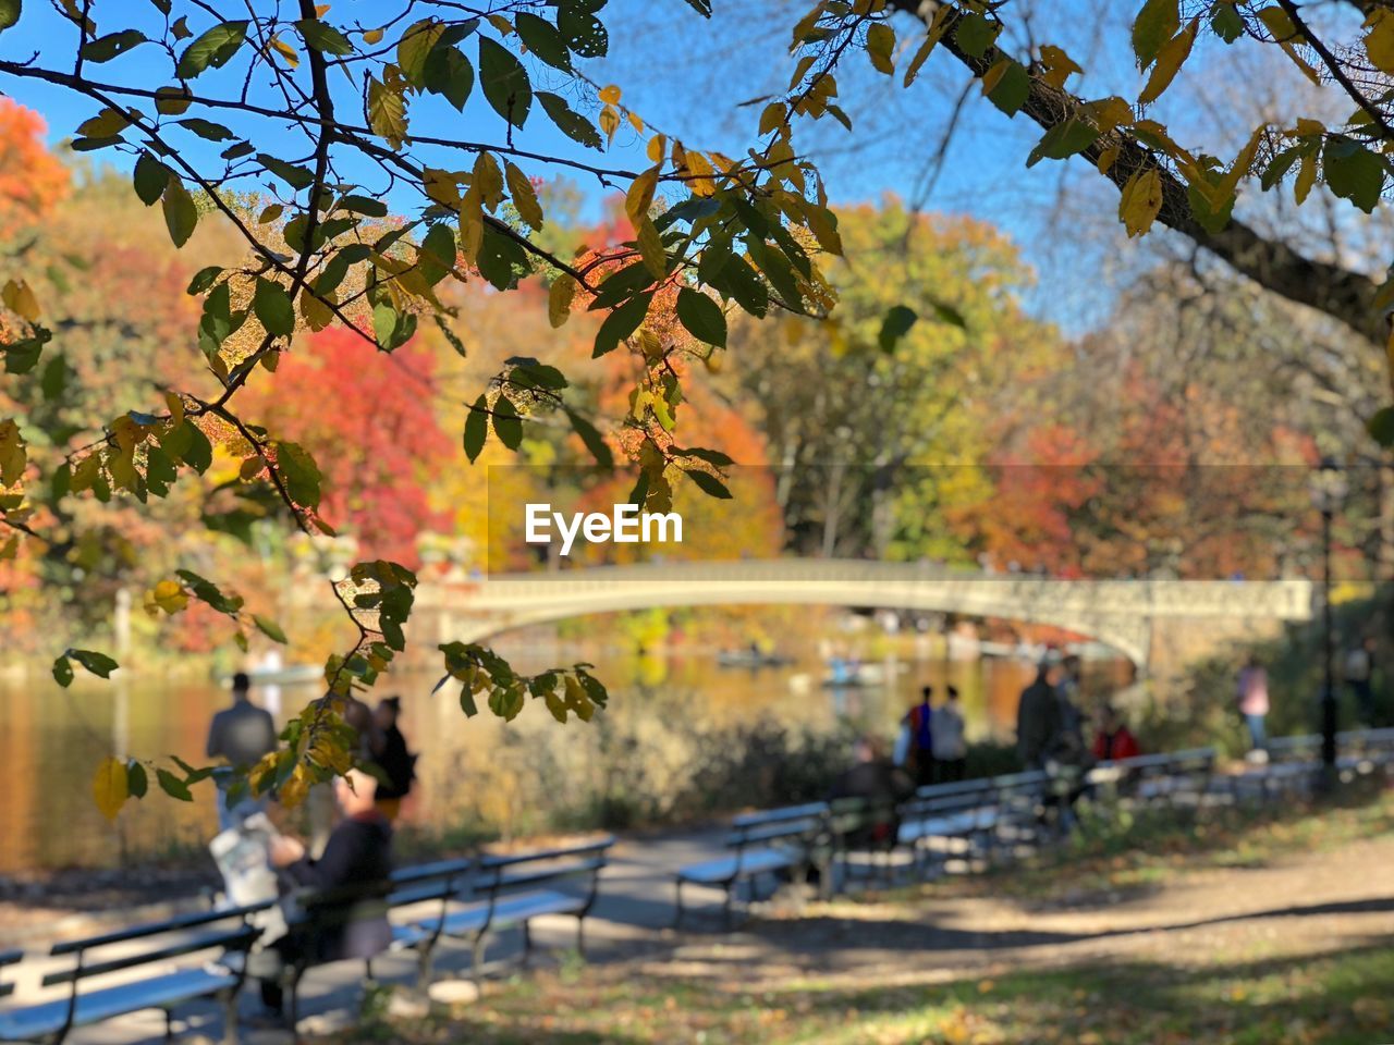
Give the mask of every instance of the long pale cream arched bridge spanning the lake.
[(1052, 624), (1146, 667), (1158, 648), (1195, 656), (1309, 620), (1312, 582), (1064, 581), (821, 559), (645, 563), (422, 582), (413, 617), (421, 640), (478, 642), (588, 613), (715, 605), (889, 607)]

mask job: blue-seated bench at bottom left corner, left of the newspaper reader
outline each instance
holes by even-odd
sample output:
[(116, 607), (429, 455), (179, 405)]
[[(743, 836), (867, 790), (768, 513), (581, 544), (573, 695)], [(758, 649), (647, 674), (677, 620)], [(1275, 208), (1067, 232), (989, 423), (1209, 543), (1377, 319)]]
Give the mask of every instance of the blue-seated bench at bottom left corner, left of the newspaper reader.
[[(63, 959), (63, 967), (46, 973), (39, 984), (67, 986), (66, 996), (0, 1012), (0, 1041), (57, 1045), (77, 1027), (151, 1009), (164, 1013), (170, 1037), (173, 1010), (205, 999), (222, 1002), (224, 1041), (237, 1041), (237, 996), (245, 973), (243, 963), (224, 964), (222, 959), (245, 954), (259, 935), (248, 924), (251, 913), (245, 907), (199, 911), (54, 943), (49, 956)], [(219, 957), (199, 966), (176, 963), (202, 952), (216, 952)], [(20, 952), (0, 956), (3, 966), (18, 960)], [(13, 991), (13, 984), (6, 984), (0, 996)]]

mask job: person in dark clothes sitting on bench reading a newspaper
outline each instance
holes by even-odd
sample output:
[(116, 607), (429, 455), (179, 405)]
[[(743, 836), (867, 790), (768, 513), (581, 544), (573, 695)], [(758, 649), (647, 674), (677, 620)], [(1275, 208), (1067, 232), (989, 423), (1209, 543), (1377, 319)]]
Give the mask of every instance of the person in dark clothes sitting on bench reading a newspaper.
[(287, 917), (289, 932), (254, 956), (262, 1002), (273, 1019), (284, 1014), (287, 968), (369, 959), (392, 943), (383, 899), (392, 874), (392, 825), (375, 805), (376, 791), (378, 782), (361, 769), (335, 780), (343, 818), (319, 860), (308, 858), (291, 837), (277, 836), (270, 846), (283, 896), (305, 897), (304, 910)]

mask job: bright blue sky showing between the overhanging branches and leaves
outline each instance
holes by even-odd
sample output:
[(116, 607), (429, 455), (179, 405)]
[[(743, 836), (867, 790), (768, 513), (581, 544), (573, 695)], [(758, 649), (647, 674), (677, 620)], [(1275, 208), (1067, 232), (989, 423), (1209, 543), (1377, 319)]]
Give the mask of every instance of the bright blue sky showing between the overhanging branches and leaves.
[[(1057, 13), (1079, 11), (1066, 0), (1046, 3)], [(187, 4), (176, 4), (176, 14)], [(340, 0), (330, 7), (328, 20), (340, 25), (362, 22), (372, 25), (371, 17), (383, 17), (399, 4)], [(740, 102), (765, 93), (776, 93), (788, 82), (792, 60), (785, 53), (789, 26), (802, 13), (802, 4), (786, 0), (717, 0), (717, 17), (711, 21), (697, 15), (683, 0), (612, 0), (604, 17), (611, 28), (611, 54), (585, 65), (597, 82), (615, 82), (623, 88), (623, 100), (651, 125), (683, 138), (690, 144), (739, 155), (753, 141), (758, 106), (740, 107)], [(1128, 8), (1131, 4), (1101, 4), (1097, 18), (1066, 18), (1051, 24), (1050, 38), (1064, 43), (1089, 72), (1082, 86), (1089, 96), (1136, 89), (1136, 71), (1131, 56), (1119, 53), (1128, 39)], [(100, 0), (93, 4), (99, 32), (124, 28), (109, 14), (120, 10), (120, 17), (137, 25), (148, 21), (149, 35), (159, 35), (162, 18), (149, 3), (138, 0)], [(210, 25), (208, 15), (197, 13), (190, 18), (195, 32)], [(914, 25), (899, 20), (896, 26), (913, 43)], [(1071, 39), (1073, 36), (1073, 39)], [(296, 45), (294, 31), (287, 39)], [(68, 70), (72, 63), (75, 31), (49, 4), (25, 4), (22, 21), (0, 36), (0, 57), (28, 59), (38, 52), (40, 65)], [(180, 45), (183, 47), (184, 45)], [(473, 43), (464, 45), (473, 57)], [(1199, 50), (1199, 49), (1197, 49)], [(903, 59), (902, 59), (903, 60)], [(238, 63), (229, 70), (205, 72), (195, 81), (199, 92), (229, 96), (241, 86)], [(169, 57), (156, 45), (142, 45), (130, 53), (98, 67), (89, 67), (102, 79), (155, 88), (173, 82)], [(530, 63), (534, 86), (569, 93), (581, 111), (594, 113), (590, 92), (570, 89), (562, 74)], [(361, 113), (357, 88), (335, 77), (340, 86), (339, 110)], [(965, 102), (965, 72), (947, 56), (935, 56), (926, 65), (919, 82), (905, 91), (899, 77), (887, 78), (874, 72), (864, 56), (852, 54), (850, 63), (839, 72), (843, 106), (856, 121), (856, 134), (848, 135), (832, 121), (818, 125), (800, 139), (825, 171), (829, 192), (838, 202), (863, 202), (895, 192), (931, 210), (966, 212), (993, 222), (1011, 234), (1027, 261), (1040, 272), (1037, 290), (1029, 307), (1043, 318), (1059, 322), (1066, 329), (1079, 330), (1101, 318), (1107, 295), (1100, 290), (1108, 270), (1119, 263), (1118, 251), (1129, 248), (1118, 244), (1108, 231), (1110, 212), (1117, 206), (1117, 191), (1096, 176), (1085, 173), (1078, 162), (1066, 164), (1043, 163), (1027, 171), (1025, 159), (1040, 131), (1025, 117), (1006, 120), (981, 99), (976, 86), (969, 86)], [(49, 121), (53, 139), (70, 137), (78, 123), (98, 111), (98, 106), (66, 88), (33, 81), (0, 77), (0, 89), (17, 100), (40, 111)], [(254, 85), (254, 102), (276, 107), (283, 103), (265, 85)], [(958, 109), (958, 117), (953, 113)], [(227, 123), (231, 130), (250, 134), (259, 148), (283, 159), (297, 159), (305, 152), (304, 139), (289, 135), (272, 121), (255, 123), (229, 118), (217, 111), (195, 107), (190, 116), (204, 116)], [(361, 116), (358, 117), (361, 120)], [(940, 155), (941, 142), (949, 124), (953, 134)], [(413, 104), (413, 130), (417, 134), (457, 137), (499, 144), (505, 139), (502, 120), (488, 109), (478, 86), (463, 114), (441, 99), (420, 99)], [(183, 132), (181, 141), (194, 155), (213, 159), (222, 148), (210, 146), (192, 134)], [(606, 156), (598, 156), (573, 144), (558, 132), (545, 114), (534, 104), (526, 130), (517, 145), (541, 153), (640, 170), (647, 166), (638, 135), (625, 127)], [(459, 153), (446, 155), (424, 146), (414, 150), (438, 166), (468, 166)], [(105, 150), (96, 153), (103, 162), (128, 167), (131, 157)], [(558, 169), (523, 164), (530, 174), (556, 174)], [(937, 174), (935, 174), (937, 171)], [(381, 173), (368, 166), (348, 167), (346, 177), (362, 178), (371, 188), (385, 191)], [(934, 174), (931, 180), (931, 174)], [(587, 174), (567, 176), (585, 194), (591, 215), (598, 201), (625, 187), (605, 187)], [(1065, 184), (1069, 192), (1062, 192)], [(926, 191), (933, 185), (933, 191)], [(251, 188), (252, 183), (243, 183)], [(401, 191), (389, 192), (389, 201), (406, 208), (413, 201)], [(1083, 202), (1082, 202), (1083, 201)], [(1075, 234), (1078, 217), (1069, 208), (1080, 206), (1092, 215), (1103, 215), (1101, 240), (1090, 241)], [(1064, 254), (1062, 254), (1064, 251)]]

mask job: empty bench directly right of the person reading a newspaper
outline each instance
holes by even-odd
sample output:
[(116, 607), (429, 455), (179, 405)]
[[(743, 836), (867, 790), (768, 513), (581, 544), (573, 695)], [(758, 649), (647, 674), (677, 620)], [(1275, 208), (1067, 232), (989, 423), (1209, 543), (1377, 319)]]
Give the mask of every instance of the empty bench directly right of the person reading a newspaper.
[[(468, 878), (456, 879), (450, 874), (443, 885), (434, 885), (435, 879), (424, 875), (418, 888), (425, 892), (439, 889), (442, 910), (414, 921), (404, 932), (395, 934), (401, 940), (399, 946), (415, 946), (429, 956), (442, 938), (467, 940), (473, 949), (471, 973), (478, 977), (484, 971), (485, 947), (493, 934), (520, 928), (526, 963), (533, 952), (533, 920), (548, 914), (567, 914), (576, 918), (576, 949), (584, 954), (585, 917), (595, 903), (599, 875), (613, 844), (615, 837), (608, 835), (576, 846), (487, 856), (475, 864)], [(460, 888), (453, 885), (456, 881)], [(579, 890), (562, 888), (573, 881), (581, 881), (584, 886)], [(410, 888), (408, 883), (408, 892), (400, 899), (411, 895)], [(464, 896), (470, 897), (468, 903), (452, 906), (452, 900)], [(429, 974), (429, 957), (425, 959), (422, 971)]]

